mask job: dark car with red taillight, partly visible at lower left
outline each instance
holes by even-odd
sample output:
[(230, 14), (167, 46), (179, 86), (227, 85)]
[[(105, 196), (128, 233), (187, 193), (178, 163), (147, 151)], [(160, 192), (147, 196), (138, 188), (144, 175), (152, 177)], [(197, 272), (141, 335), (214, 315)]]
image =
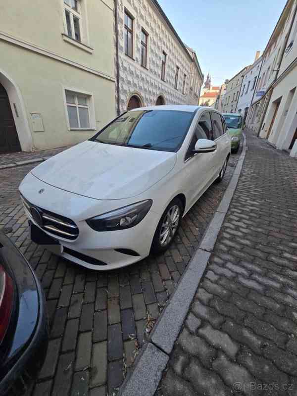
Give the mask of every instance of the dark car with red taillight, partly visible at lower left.
[(48, 322), (41, 285), (24, 256), (0, 232), (0, 395), (20, 390), (41, 367)]

